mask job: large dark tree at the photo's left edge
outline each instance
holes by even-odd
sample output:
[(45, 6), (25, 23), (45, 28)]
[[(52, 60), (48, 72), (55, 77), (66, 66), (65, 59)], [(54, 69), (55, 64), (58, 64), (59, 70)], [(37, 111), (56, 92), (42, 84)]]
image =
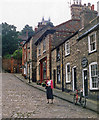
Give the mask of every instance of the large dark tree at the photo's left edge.
[(2, 55), (13, 54), (18, 48), (18, 34), (14, 25), (2, 23)]

